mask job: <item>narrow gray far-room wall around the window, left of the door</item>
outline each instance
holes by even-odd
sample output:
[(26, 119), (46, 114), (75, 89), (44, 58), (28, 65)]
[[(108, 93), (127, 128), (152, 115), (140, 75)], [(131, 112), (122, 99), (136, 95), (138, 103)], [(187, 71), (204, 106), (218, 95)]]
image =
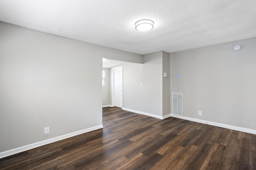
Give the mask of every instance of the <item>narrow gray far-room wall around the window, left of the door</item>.
[(102, 68), (106, 71), (106, 85), (102, 86), (102, 106), (111, 105), (110, 101), (110, 72), (109, 68)]

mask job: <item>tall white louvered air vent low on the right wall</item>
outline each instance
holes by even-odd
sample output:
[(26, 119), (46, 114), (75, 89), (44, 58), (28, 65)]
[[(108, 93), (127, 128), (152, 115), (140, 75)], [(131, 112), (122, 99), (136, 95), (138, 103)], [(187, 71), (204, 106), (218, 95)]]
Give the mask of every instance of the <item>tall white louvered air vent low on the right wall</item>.
[(183, 116), (182, 93), (172, 93), (172, 114)]

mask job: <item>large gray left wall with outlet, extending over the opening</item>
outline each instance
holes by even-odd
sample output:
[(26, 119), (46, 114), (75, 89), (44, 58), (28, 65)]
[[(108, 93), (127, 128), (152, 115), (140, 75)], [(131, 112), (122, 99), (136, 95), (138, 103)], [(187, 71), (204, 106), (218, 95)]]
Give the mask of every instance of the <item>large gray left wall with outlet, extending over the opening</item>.
[(102, 57), (143, 61), (4, 22), (0, 39), (0, 152), (102, 125)]

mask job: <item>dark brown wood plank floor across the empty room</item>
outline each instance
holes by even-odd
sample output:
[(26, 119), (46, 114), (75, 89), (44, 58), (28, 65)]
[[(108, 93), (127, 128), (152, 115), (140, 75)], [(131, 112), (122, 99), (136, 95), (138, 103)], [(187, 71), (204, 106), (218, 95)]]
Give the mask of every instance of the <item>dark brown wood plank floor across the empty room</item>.
[(103, 108), (103, 129), (0, 159), (1, 170), (256, 170), (256, 135)]

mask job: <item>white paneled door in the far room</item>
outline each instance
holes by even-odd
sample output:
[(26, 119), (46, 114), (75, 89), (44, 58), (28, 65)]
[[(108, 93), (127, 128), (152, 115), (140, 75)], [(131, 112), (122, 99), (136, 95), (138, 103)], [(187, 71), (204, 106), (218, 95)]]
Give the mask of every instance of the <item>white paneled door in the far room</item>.
[(123, 107), (123, 68), (114, 68), (114, 106)]

